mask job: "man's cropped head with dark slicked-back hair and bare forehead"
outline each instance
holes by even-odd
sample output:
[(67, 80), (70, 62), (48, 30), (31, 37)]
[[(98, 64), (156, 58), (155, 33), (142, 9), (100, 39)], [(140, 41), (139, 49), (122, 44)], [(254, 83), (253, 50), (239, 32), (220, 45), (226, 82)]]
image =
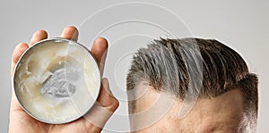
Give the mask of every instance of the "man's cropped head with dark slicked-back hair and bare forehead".
[[(130, 118), (133, 130), (256, 131), (256, 75), (249, 73), (238, 53), (216, 40), (154, 40), (134, 54), (126, 86), (129, 113), (141, 114)], [(174, 100), (161, 113), (171, 97)], [(195, 104), (179, 119), (185, 99)]]

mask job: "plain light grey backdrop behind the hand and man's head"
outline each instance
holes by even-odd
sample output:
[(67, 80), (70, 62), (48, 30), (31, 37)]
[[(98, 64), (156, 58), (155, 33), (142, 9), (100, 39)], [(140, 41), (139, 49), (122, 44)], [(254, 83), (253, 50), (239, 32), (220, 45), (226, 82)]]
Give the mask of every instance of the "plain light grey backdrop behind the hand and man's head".
[[(132, 3), (126, 4), (128, 2)], [(8, 130), (13, 48), (20, 42), (29, 43), (32, 33), (38, 29), (46, 29), (49, 37), (57, 37), (68, 25), (81, 30), (79, 42), (88, 47), (95, 37), (108, 38), (105, 77), (120, 99), (120, 107), (103, 132), (129, 129), (126, 71), (132, 52), (156, 37), (216, 38), (239, 52), (249, 70), (259, 78), (257, 132), (269, 130), (266, 123), (269, 118), (269, 1), (10, 0), (0, 2), (0, 16), (1, 132)]]

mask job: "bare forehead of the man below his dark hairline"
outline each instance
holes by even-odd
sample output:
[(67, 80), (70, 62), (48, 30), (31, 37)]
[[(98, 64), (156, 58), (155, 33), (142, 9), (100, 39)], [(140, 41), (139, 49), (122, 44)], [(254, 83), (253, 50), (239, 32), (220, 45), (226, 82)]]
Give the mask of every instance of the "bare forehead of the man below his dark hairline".
[[(148, 112), (144, 114), (153, 114), (155, 117), (160, 118), (149, 125), (149, 122), (144, 123), (143, 121), (151, 119), (152, 116), (137, 115), (133, 119), (134, 121), (131, 121), (133, 127), (145, 130), (167, 127), (164, 129), (172, 129), (171, 131), (178, 131), (180, 129), (181, 131), (186, 130), (188, 132), (230, 131), (236, 130), (239, 127), (240, 117), (243, 112), (243, 96), (239, 89), (230, 90), (221, 96), (199, 98), (192, 110), (183, 119), (178, 119), (179, 110), (182, 108), (182, 101), (178, 99), (169, 106), (165, 113), (156, 114), (156, 112), (152, 111), (151, 108), (158, 110), (158, 107), (163, 107), (163, 105), (157, 105), (156, 108), (156, 104), (160, 104), (160, 97), (161, 94), (159, 92), (148, 89), (143, 93), (143, 96), (136, 100), (134, 113)], [(163, 111), (163, 109), (160, 110)]]

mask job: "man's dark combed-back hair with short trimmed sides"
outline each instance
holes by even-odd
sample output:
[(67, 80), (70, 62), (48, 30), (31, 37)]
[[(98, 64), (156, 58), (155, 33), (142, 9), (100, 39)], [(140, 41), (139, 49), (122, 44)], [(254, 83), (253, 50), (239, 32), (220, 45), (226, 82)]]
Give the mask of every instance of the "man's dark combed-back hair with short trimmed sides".
[[(126, 79), (127, 90), (133, 90), (141, 81), (181, 100), (189, 92), (206, 98), (240, 89), (244, 97), (244, 120), (248, 118), (250, 122), (241, 123), (239, 130), (244, 132), (247, 127), (256, 130), (258, 79), (249, 73), (246, 62), (237, 52), (217, 40), (153, 40), (134, 54)], [(128, 97), (131, 95), (135, 94)], [(135, 100), (129, 100), (128, 104), (129, 113), (134, 113)]]

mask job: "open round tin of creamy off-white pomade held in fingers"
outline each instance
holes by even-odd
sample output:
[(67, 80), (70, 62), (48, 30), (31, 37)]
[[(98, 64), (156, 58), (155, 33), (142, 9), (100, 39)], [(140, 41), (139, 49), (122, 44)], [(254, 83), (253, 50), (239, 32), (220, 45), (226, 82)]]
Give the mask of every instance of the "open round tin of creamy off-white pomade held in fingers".
[(31, 116), (65, 123), (90, 110), (100, 91), (100, 71), (83, 46), (62, 38), (48, 39), (22, 55), (13, 88)]

